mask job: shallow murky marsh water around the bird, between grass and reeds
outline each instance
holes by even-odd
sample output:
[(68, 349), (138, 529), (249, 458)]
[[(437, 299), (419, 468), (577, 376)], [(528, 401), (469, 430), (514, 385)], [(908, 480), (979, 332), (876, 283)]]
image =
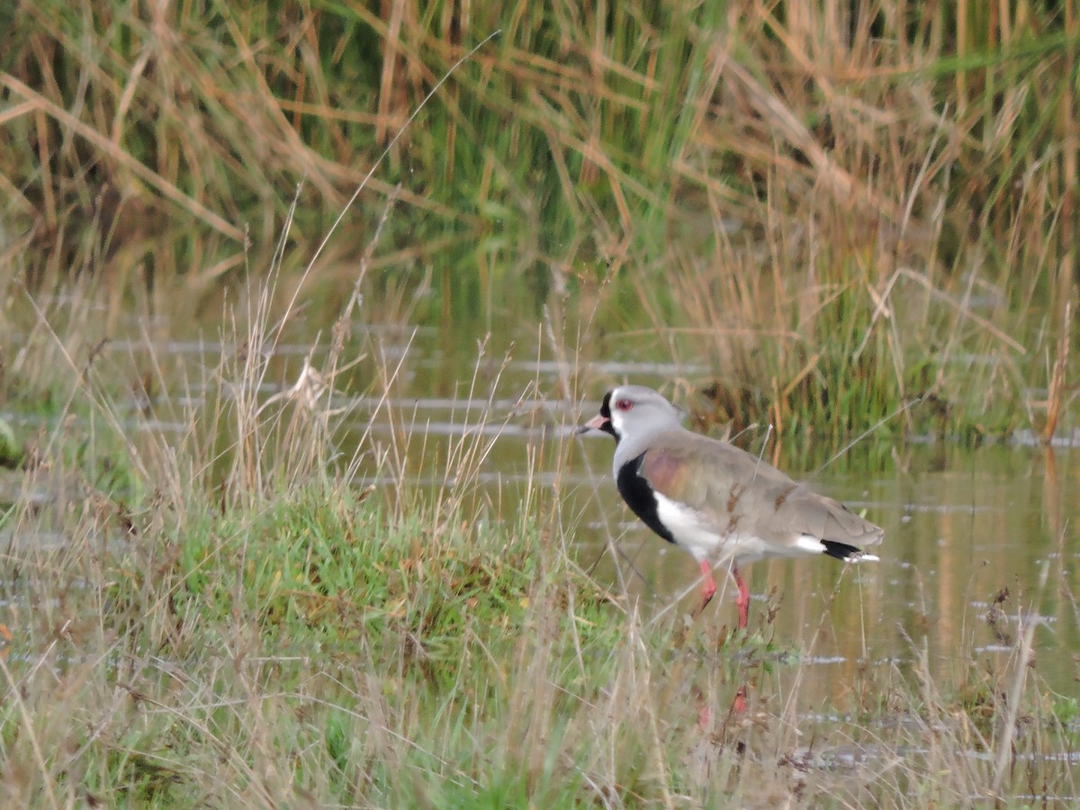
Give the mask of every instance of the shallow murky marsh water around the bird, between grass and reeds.
[[(620, 500), (610, 474), (611, 440), (578, 436), (575, 428), (594, 415), (613, 381), (662, 386), (686, 375), (707, 378), (706, 369), (586, 357), (571, 374), (565, 362), (537, 348), (535, 337), (529, 348), (528, 335), (537, 329), (527, 324), (489, 340), (483, 351), (473, 335), (448, 340), (434, 328), (356, 323), (353, 332), (363, 336), (362, 345), (347, 349), (346, 359), (351, 352), (366, 360), (348, 378), (334, 381), (333, 397), (325, 402), (339, 411), (338, 449), (346, 459), (357, 448), (373, 449), (374, 459), (380, 449), (394, 447), (404, 459), (362, 464), (357, 486), (404, 483), (434, 490), (464, 483), (484, 504), (485, 519), (507, 521), (527, 494), (536, 502), (539, 490), (549, 502), (559, 501), (567, 551), (623, 604), (636, 604), (646, 621), (672, 611), (689, 613), (698, 605), (697, 564), (652, 535)], [(513, 349), (512, 339), (518, 341)], [(216, 367), (222, 351), (234, 350), (228, 341), (190, 335), (149, 345), (135, 337), (106, 346), (98, 362), (132, 379), (160, 365), (176, 388), (156, 392), (156, 401), (198, 406), (202, 397), (217, 395), (213, 386), (200, 382), (204, 377), (198, 369)], [(292, 384), (310, 346), (283, 343), (268, 351), (276, 377), (258, 392), (264, 401)], [(316, 367), (323, 356), (315, 354)], [(392, 382), (379, 382), (388, 369)], [(575, 386), (586, 392), (581, 402), (564, 393)], [(378, 393), (383, 389), (386, 396)], [(153, 407), (144, 413), (137, 397), (120, 408), (130, 414), (133, 436), (180, 434), (189, 428)], [(39, 427), (37, 418), (6, 418), (16, 427)], [(1032, 622), (1028, 676), (1061, 696), (1077, 693), (1080, 499), (1074, 492), (1080, 450), (1070, 443), (1054, 450), (1024, 441), (970, 449), (864, 438), (829, 460), (812, 442), (778, 448), (769, 441), (762, 449), (766, 434), (751, 431), (739, 444), (764, 453), (796, 478), (811, 480), (819, 491), (864, 512), (886, 530), (876, 550), (878, 563), (761, 561), (744, 571), (753, 594), (752, 630), (785, 651), (782, 665), (757, 677), (775, 678), (778, 693), (798, 700), (797, 706), (772, 708), (800, 712), (801, 726), (843, 721), (814, 719), (815, 713), (826, 702), (842, 705), (867, 673), (886, 680), (890, 674), (915, 677), (923, 657), (934, 678), (951, 684), (972, 670), (1005, 672), (1014, 666)], [(468, 454), (480, 459), (475, 467), (461, 463)], [(4, 545), (39, 540), (45, 541), (0, 538)], [(723, 572), (717, 580), (717, 598), (694, 621), (731, 626), (734, 590)], [(831, 767), (846, 767), (873, 759), (874, 752), (815, 756), (831, 756)], [(1076, 759), (1067, 765), (1075, 767)]]

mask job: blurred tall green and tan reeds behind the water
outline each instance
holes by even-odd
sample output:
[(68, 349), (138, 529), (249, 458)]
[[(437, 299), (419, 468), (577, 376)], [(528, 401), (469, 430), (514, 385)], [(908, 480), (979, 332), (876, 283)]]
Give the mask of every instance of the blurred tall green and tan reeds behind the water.
[(0, 26), (4, 288), (90, 278), (113, 310), (179, 292), (213, 319), (294, 199), (300, 284), (499, 30), (312, 299), (351, 293), (392, 201), (377, 298), (490, 328), (575, 296), (708, 357), (737, 421), (837, 436), (923, 397), (897, 423), (1050, 436), (1071, 396), (1072, 3), (45, 0)]

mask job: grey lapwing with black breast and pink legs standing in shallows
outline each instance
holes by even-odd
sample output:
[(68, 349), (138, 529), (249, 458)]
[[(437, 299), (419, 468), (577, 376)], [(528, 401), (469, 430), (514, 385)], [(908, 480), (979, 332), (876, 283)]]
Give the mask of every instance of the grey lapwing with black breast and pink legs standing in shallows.
[(885, 531), (727, 442), (692, 433), (681, 414), (643, 386), (608, 391), (600, 413), (580, 432), (615, 436), (619, 494), (645, 525), (686, 549), (701, 565), (701, 608), (716, 593), (713, 567), (739, 588), (739, 626), (746, 626), (750, 589), (739, 567), (762, 557), (827, 554), (846, 563), (877, 559), (863, 545)]

